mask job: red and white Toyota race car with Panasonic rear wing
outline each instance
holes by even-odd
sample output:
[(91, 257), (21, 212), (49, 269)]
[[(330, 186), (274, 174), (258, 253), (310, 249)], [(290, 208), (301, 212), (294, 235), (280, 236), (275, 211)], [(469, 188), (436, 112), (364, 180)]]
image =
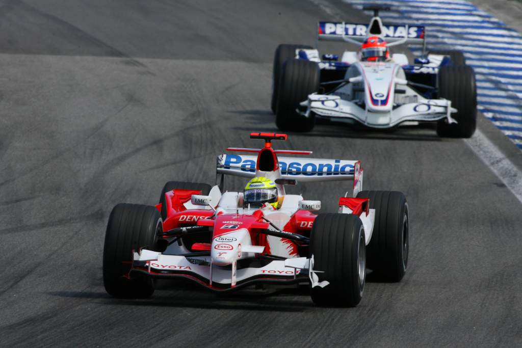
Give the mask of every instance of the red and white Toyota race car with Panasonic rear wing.
[[(211, 291), (249, 285), (309, 284), (318, 305), (355, 306), (366, 268), (400, 281), (408, 264), (408, 205), (397, 191), (361, 191), (359, 161), (283, 157), (285, 134), (252, 133), (261, 149), (217, 158), (218, 185), (168, 182), (158, 205), (118, 204), (110, 214), (103, 282), (117, 297), (147, 297), (153, 279), (185, 278)], [(277, 208), (252, 206), (228, 191), (224, 177), (263, 177), (277, 188)], [(339, 181), (338, 211), (314, 213), (321, 201), (285, 193), (296, 182)], [(349, 193), (346, 181), (352, 181)], [(350, 194), (350, 196), (348, 196)], [(276, 286), (277, 288), (278, 286)]]

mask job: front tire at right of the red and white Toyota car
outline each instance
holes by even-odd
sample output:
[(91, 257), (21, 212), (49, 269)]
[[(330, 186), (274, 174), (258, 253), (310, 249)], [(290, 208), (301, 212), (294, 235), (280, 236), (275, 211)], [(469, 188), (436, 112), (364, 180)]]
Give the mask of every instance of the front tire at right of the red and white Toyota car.
[(310, 235), (314, 270), (325, 287), (312, 287), (312, 301), (321, 306), (355, 307), (361, 302), (366, 275), (364, 228), (354, 214), (319, 214)]

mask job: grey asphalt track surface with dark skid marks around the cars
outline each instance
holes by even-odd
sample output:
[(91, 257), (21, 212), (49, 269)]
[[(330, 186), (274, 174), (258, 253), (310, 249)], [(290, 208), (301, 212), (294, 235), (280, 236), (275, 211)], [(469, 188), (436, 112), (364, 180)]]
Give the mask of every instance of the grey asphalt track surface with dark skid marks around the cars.
[[(464, 141), (429, 127), (318, 125), (277, 144), (359, 159), (366, 188), (407, 196), (406, 277), (367, 283), (357, 308), (189, 283), (138, 301), (105, 293), (112, 207), (153, 205), (172, 179), (213, 183), (218, 153), (276, 130), (277, 44), (314, 44), (316, 22), (332, 18), (325, 8), (366, 21), (317, 3), (0, 1), (0, 345), (522, 344), (521, 203)], [(299, 190), (335, 211), (348, 187)]]

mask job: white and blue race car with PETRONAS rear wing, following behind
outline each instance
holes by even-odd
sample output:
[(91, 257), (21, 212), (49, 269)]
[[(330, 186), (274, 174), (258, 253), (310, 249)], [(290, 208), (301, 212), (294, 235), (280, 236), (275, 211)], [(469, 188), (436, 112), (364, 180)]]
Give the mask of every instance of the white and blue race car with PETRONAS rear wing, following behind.
[[(370, 24), (319, 22), (318, 39), (384, 47), (423, 44), (410, 65), (404, 54), (366, 61), (345, 51), (340, 61), (304, 45), (279, 45), (274, 58), (272, 111), (281, 130), (309, 131), (315, 118), (393, 128), (401, 123), (437, 122), (443, 137), (471, 137), (476, 128), (477, 92), (473, 69), (459, 51), (425, 51), (424, 27), (384, 26), (374, 10)], [(364, 49), (364, 46), (363, 46)]]

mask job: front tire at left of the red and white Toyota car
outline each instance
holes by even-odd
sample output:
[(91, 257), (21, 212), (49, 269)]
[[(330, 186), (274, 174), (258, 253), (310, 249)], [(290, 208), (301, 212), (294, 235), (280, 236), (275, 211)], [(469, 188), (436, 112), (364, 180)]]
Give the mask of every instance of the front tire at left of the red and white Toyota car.
[(120, 203), (111, 212), (103, 247), (103, 285), (115, 297), (146, 298), (154, 292), (151, 278), (128, 279), (132, 250), (157, 249), (163, 231), (160, 213), (155, 207)]

